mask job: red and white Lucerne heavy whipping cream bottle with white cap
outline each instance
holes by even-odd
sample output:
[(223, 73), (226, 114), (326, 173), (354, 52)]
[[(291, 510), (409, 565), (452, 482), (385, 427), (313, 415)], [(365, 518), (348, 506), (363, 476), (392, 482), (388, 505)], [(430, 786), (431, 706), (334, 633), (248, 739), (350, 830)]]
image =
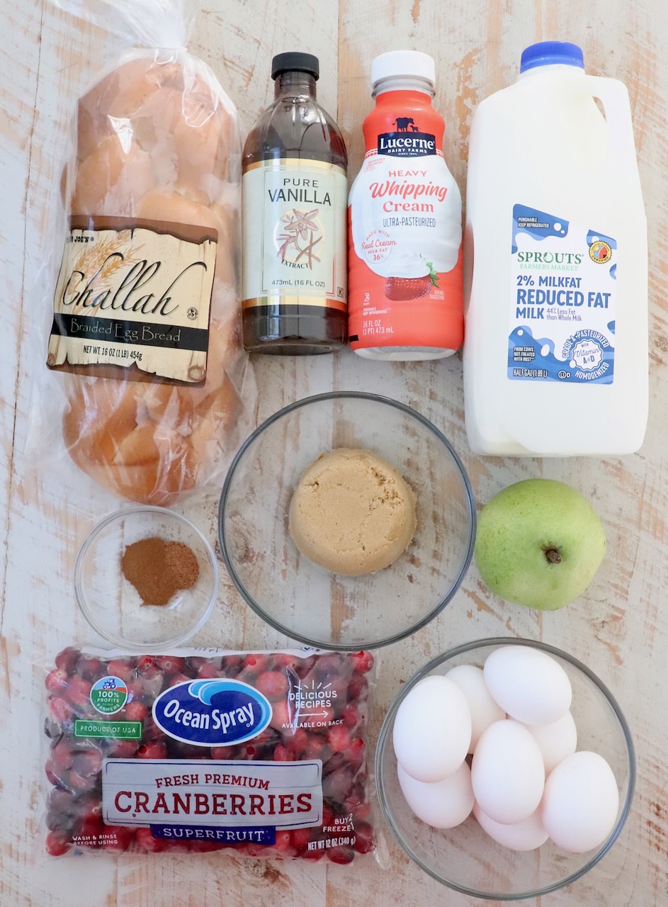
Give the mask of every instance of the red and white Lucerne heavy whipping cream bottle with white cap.
[(434, 82), (427, 54), (373, 60), (376, 106), (348, 208), (349, 340), (369, 359), (439, 359), (463, 338), (461, 195)]

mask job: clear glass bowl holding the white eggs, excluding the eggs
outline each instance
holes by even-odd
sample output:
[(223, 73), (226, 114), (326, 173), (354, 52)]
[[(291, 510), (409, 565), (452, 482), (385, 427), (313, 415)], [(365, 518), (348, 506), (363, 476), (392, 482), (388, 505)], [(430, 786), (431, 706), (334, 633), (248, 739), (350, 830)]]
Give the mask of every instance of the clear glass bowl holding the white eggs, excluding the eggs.
[[(481, 668), (494, 649), (508, 645), (531, 646), (547, 652), (566, 670), (573, 688), (571, 712), (577, 727), (577, 749), (599, 753), (615, 774), (619, 788), (615, 827), (595, 851), (566, 853), (549, 840), (534, 851), (511, 851), (490, 838), (473, 815), (455, 828), (431, 828), (412, 814), (403, 797), (392, 746), (394, 717), (403, 698), (422, 678), (446, 674), (456, 665)], [(530, 639), (481, 639), (433, 658), (402, 686), (382, 723), (375, 775), (382, 812), (392, 833), (426, 873), (457, 892), (490, 901), (514, 901), (538, 897), (575, 882), (615, 844), (634, 795), (634, 743), (615, 697), (582, 662), (560, 649)]]

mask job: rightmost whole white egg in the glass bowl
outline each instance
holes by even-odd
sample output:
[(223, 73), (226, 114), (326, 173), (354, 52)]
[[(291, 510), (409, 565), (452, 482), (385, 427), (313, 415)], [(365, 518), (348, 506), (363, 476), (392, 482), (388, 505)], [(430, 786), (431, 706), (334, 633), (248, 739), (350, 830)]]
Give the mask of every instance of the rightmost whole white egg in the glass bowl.
[(566, 756), (550, 773), (540, 818), (547, 834), (569, 853), (603, 844), (615, 825), (619, 792), (603, 756), (586, 750)]

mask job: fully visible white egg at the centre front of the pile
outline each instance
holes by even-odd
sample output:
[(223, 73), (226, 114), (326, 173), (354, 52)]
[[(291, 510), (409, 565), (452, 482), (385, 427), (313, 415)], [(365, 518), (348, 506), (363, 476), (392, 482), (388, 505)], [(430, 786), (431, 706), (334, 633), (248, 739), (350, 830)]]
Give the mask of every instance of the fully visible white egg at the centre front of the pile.
[(489, 725), (473, 754), (471, 784), (480, 808), (495, 822), (515, 824), (536, 811), (545, 768), (524, 725), (510, 718)]

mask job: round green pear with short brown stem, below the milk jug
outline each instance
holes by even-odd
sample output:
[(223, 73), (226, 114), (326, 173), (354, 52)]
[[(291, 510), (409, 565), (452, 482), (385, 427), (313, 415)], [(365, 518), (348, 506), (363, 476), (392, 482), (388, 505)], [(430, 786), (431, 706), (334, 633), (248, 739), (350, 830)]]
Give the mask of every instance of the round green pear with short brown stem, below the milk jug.
[(557, 610), (586, 590), (605, 555), (591, 504), (553, 479), (509, 485), (480, 512), (476, 563), (502, 599)]

